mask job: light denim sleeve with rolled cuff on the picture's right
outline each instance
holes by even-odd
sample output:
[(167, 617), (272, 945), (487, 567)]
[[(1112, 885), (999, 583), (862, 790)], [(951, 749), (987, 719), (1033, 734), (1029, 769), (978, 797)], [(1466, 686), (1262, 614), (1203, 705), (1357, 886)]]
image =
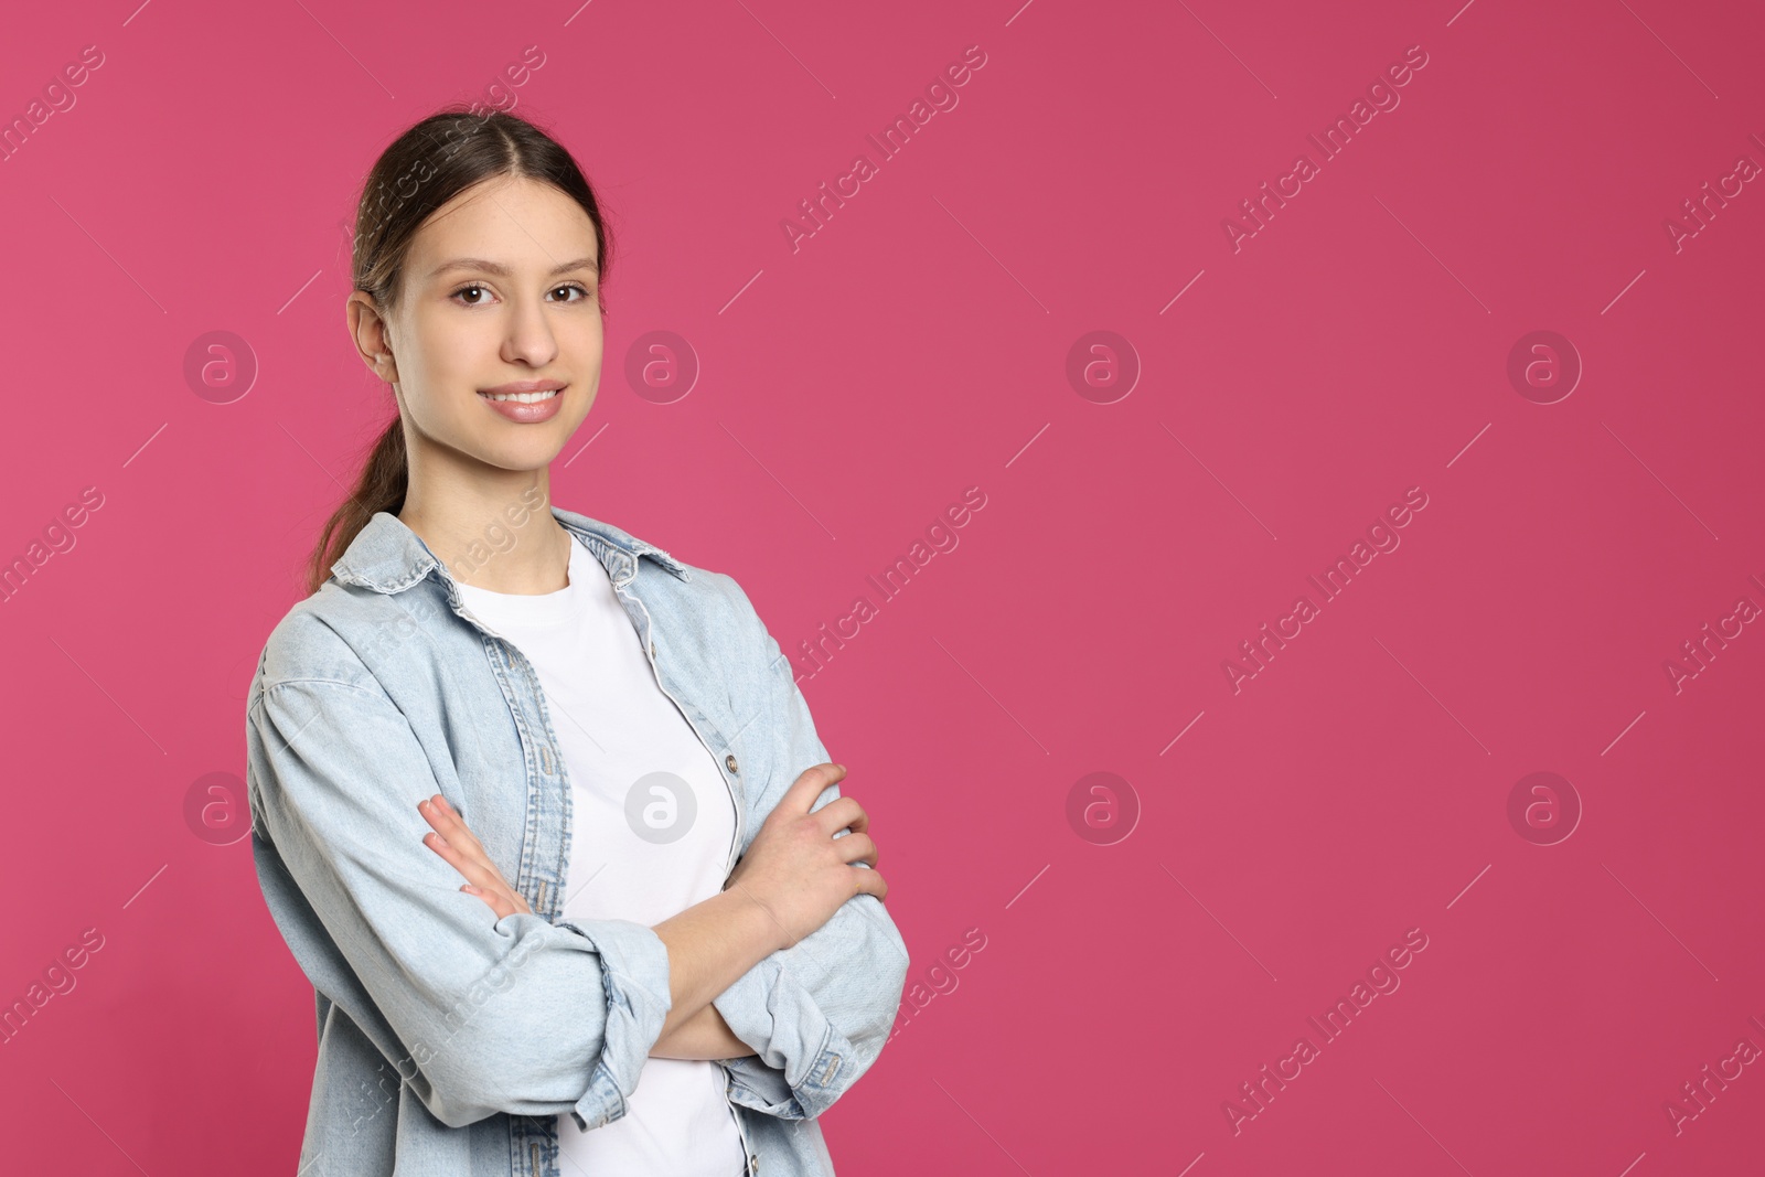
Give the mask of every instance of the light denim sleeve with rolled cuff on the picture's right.
[[(770, 780), (750, 780), (757, 822), (810, 766), (828, 762), (789, 658), (734, 581), (761, 676), (759, 716), (743, 732), (745, 757), (764, 745)], [(812, 810), (840, 796), (828, 785)], [(835, 836), (847, 836), (842, 829)], [(854, 863), (868, 870), (867, 863)], [(713, 999), (731, 1032), (755, 1055), (725, 1061), (732, 1099), (780, 1119), (814, 1119), (870, 1069), (888, 1041), (907, 979), (907, 944), (874, 895), (854, 895), (815, 932), (778, 949)]]

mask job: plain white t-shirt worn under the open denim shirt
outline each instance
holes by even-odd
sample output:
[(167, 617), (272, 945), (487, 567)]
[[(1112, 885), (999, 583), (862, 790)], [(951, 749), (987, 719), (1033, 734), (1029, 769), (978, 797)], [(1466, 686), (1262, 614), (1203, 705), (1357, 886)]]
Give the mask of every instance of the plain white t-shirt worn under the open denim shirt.
[[(657, 925), (717, 895), (736, 835), (729, 785), (657, 685), (607, 570), (570, 538), (570, 584), (466, 609), (533, 663), (570, 780), (563, 914)], [(611, 1124), (558, 1117), (565, 1177), (731, 1177), (747, 1154), (710, 1059), (650, 1059)]]

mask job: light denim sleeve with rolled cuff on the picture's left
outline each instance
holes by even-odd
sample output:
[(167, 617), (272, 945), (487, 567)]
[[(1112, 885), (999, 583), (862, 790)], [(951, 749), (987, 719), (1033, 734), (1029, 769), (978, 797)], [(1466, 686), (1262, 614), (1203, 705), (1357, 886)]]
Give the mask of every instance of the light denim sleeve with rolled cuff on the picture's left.
[(625, 1115), (671, 1008), (660, 937), (625, 919), (498, 919), (461, 891), (417, 810), (443, 789), (372, 678), (275, 683), (245, 736), (270, 914), (314, 986), (402, 1053), (424, 1106), (450, 1128)]

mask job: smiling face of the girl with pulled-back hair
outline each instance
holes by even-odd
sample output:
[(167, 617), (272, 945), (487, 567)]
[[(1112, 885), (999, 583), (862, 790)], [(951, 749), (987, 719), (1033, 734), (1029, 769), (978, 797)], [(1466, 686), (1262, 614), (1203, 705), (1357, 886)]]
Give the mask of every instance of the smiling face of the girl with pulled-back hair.
[[(537, 180), (485, 180), (424, 222), (385, 328), (392, 358), (372, 360), (420, 448), (501, 469), (563, 450), (600, 388), (598, 261), (582, 206)], [(531, 404), (491, 395), (522, 390)]]

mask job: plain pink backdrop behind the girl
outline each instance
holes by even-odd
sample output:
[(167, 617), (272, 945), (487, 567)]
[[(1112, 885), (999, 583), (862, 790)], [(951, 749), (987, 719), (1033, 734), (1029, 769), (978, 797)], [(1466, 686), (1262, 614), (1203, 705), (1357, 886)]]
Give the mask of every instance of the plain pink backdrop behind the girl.
[[(102, 494), (0, 607), (0, 1001), (102, 935), (0, 1046), (9, 1172), (293, 1172), (311, 986), (249, 840), (214, 843), (244, 826), (205, 840), (185, 799), (244, 773), (256, 655), (390, 415), (344, 335), (357, 185), (507, 95), (616, 217), (558, 503), (732, 574), (792, 655), (877, 603), (801, 681), (927, 1004), (824, 1117), (844, 1177), (1758, 1165), (1765, 1068), (1677, 1133), (1664, 1105), (1765, 1048), (1765, 626), (1679, 692), (1663, 665), (1765, 605), (1765, 185), (1663, 228), (1765, 164), (1754, 5), (404, 9), (9, 14), (7, 118), (104, 56), (0, 164), (0, 558)], [(1234, 252), (1221, 221), (1417, 44)], [(858, 152), (879, 173), (792, 252)], [(258, 364), (228, 404), (184, 376), (215, 330)], [(671, 404), (625, 379), (653, 330), (702, 369)], [(1066, 376), (1096, 330), (1140, 367), (1107, 404)], [(1536, 330), (1585, 365), (1553, 404), (1507, 378)], [(960, 545), (879, 602), (967, 487)], [(1401, 547), (1234, 692), (1410, 487)], [(1507, 815), (1537, 771), (1583, 808), (1553, 845)], [(1070, 822), (1091, 773), (1126, 783)], [(1401, 988), (1234, 1131), (1410, 928)]]

